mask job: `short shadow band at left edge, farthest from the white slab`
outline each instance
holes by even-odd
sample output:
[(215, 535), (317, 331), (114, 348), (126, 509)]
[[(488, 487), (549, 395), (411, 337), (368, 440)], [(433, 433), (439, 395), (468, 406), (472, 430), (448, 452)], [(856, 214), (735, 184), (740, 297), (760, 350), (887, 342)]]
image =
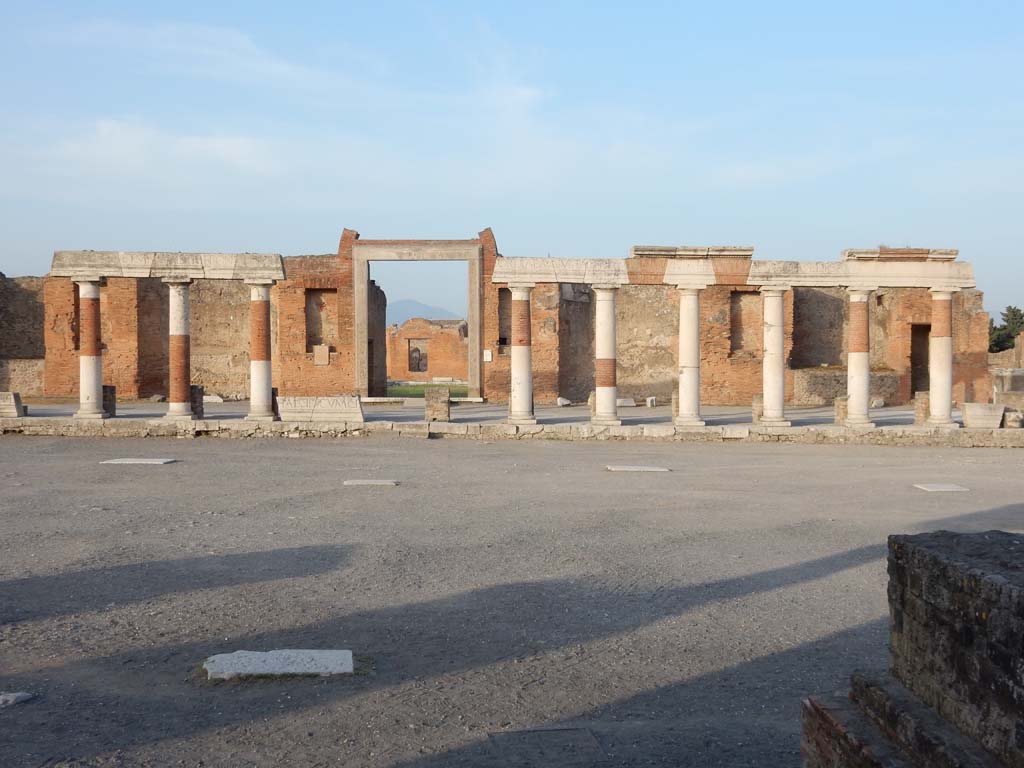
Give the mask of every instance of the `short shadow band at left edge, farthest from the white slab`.
[(0, 625), (193, 590), (314, 575), (338, 568), (348, 547), (295, 547), (112, 565), (0, 582)]

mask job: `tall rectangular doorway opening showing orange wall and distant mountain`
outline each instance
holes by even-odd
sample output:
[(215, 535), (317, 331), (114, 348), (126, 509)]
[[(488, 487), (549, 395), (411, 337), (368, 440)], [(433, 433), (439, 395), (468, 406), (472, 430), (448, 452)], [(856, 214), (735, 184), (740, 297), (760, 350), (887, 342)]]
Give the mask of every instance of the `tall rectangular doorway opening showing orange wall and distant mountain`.
[[(371, 335), (383, 335), (376, 364), (386, 372), (371, 375), (372, 395), (422, 397), (431, 386), (449, 387), (453, 397), (468, 395), (468, 271), (462, 261), (371, 259), (370, 293), (376, 287), (386, 296), (383, 324), (378, 321), (377, 333), (374, 304), (368, 303)], [(373, 366), (374, 358), (369, 362)]]

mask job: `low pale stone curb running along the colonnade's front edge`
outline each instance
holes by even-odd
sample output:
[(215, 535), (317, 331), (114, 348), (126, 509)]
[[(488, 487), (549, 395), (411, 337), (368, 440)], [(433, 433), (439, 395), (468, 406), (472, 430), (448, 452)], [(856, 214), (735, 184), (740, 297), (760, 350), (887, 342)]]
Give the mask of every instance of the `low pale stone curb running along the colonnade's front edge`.
[(1024, 447), (1024, 429), (941, 429), (879, 427), (865, 430), (834, 425), (759, 427), (728, 424), (676, 427), (623, 425), (513, 424), (464, 422), (258, 422), (243, 419), (167, 422), (161, 419), (77, 420), (27, 417), (0, 419), (0, 435), (59, 437), (236, 437), (332, 438), (390, 434), (396, 437), (482, 440), (626, 440), (644, 442), (788, 442), (803, 444), (916, 445), (936, 447)]

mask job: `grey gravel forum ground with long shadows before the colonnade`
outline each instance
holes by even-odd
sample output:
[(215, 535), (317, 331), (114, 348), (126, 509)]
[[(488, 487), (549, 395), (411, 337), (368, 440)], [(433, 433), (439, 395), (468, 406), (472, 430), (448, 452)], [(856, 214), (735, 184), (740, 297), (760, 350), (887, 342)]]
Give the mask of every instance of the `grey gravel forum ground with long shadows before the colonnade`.
[[(37, 697), (0, 712), (0, 765), (796, 768), (801, 697), (886, 663), (886, 536), (1024, 529), (1022, 463), (2, 437), (0, 690)], [(359, 674), (196, 672), (287, 647), (350, 648)]]

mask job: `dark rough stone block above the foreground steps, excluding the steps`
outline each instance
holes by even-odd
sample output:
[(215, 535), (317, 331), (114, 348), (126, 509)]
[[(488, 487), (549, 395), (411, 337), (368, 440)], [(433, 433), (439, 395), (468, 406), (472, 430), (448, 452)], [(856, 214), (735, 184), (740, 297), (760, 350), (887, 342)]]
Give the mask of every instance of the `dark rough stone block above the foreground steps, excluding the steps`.
[(889, 607), (893, 675), (1024, 767), (1024, 536), (892, 537)]

